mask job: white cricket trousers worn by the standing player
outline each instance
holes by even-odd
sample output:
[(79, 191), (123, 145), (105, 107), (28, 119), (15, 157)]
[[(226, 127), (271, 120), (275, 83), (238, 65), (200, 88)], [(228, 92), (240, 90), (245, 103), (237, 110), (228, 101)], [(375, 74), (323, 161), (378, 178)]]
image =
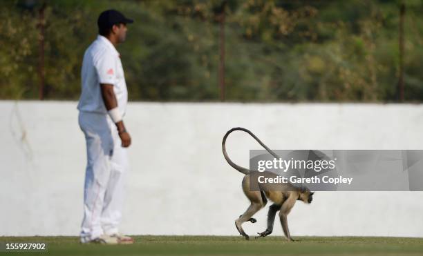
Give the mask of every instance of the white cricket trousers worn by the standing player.
[(118, 233), (124, 198), (124, 176), (129, 164), (118, 130), (108, 115), (79, 112), (86, 139), (84, 219), (81, 241)]

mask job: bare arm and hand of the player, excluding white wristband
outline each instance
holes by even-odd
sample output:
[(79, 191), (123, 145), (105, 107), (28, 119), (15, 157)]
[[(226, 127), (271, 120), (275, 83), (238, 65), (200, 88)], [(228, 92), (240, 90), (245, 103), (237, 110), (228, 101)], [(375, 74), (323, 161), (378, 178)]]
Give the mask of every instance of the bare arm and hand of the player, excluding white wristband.
[[(113, 85), (107, 83), (101, 83), (100, 85), (100, 88), (102, 88), (102, 97), (106, 110), (109, 111), (113, 110), (113, 108), (117, 108), (118, 101), (116, 100), (116, 95), (113, 91)], [(122, 141), (122, 147), (129, 147), (129, 145), (131, 145), (131, 136), (129, 136), (129, 133), (126, 131), (123, 121), (118, 121), (116, 123), (116, 127), (118, 128), (119, 137)]]

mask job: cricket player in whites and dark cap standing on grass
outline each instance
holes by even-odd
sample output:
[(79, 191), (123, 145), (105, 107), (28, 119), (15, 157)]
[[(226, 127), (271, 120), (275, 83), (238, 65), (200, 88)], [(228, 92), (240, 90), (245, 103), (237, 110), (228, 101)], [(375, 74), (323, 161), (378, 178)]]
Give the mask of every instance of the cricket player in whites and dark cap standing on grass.
[(97, 20), (100, 35), (86, 49), (82, 61), (77, 107), (87, 153), (82, 243), (133, 243), (118, 230), (131, 137), (123, 121), (128, 92), (116, 46), (125, 41), (127, 23), (133, 20), (117, 10), (102, 12)]

